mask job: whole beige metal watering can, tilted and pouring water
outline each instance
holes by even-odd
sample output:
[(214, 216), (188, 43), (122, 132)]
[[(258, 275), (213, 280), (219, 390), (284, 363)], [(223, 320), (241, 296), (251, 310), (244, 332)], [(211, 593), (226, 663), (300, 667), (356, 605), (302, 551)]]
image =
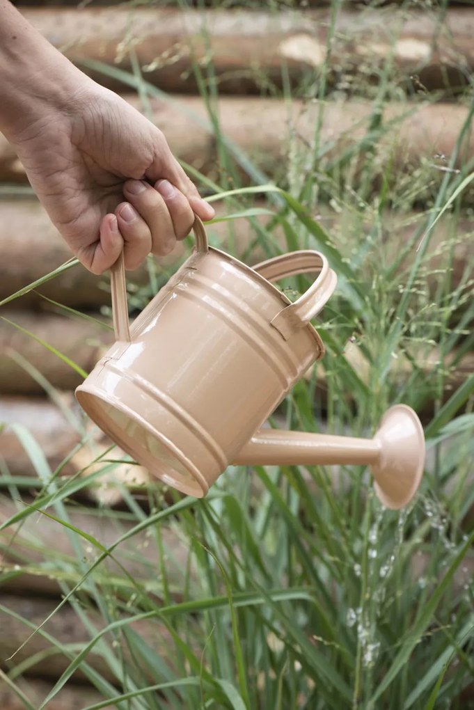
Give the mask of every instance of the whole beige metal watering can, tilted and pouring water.
[[(123, 257), (111, 273), (116, 343), (77, 388), (79, 404), (106, 435), (152, 474), (204, 496), (229, 464), (368, 464), (388, 508), (414, 496), (424, 436), (412, 409), (387, 411), (374, 439), (262, 430), (324, 354), (311, 324), (336, 287), (317, 251), (295, 251), (250, 268), (197, 249), (128, 326)], [(292, 303), (271, 281), (314, 272)]]

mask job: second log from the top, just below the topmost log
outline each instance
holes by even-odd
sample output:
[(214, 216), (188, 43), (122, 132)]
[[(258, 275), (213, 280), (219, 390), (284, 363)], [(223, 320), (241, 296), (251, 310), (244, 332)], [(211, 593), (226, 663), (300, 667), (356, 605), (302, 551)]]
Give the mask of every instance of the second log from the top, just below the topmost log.
[[(129, 94), (126, 99), (140, 109), (136, 96)], [(150, 109), (153, 121), (165, 133), (175, 155), (221, 183), (223, 167), (202, 99), (152, 98)], [(282, 163), (290, 154), (293, 169), (302, 174), (316, 170), (312, 155), (317, 152), (315, 126), (321, 119), (318, 145), (325, 149), (317, 161), (317, 169), (323, 173), (331, 170), (332, 161), (337, 162), (345, 152), (355, 151), (344, 167), (344, 175), (353, 174), (351, 188), (357, 186), (364, 165), (366, 171), (370, 165), (373, 185), (382, 174), (387, 180), (395, 180), (400, 172), (422, 169), (429, 189), (436, 190), (468, 119), (468, 109), (461, 105), (406, 102), (386, 104), (382, 116), (376, 114), (375, 104), (345, 100), (324, 104), (295, 100), (289, 104), (280, 99), (222, 97), (216, 110), (221, 132), (231, 143), (230, 150), (235, 146), (244, 151), (253, 164), (277, 180), (282, 175)], [(375, 119), (380, 121), (378, 128), (373, 127)], [(461, 169), (473, 154), (474, 132), (465, 131), (453, 168)], [(9, 179), (8, 170), (14, 164), (16, 177), (20, 179), (21, 168), (17, 163), (16, 159), (12, 163), (11, 148), (0, 136), (0, 168), (7, 170), (0, 178)], [(241, 170), (245, 180), (245, 170)], [(24, 173), (23, 180), (26, 180)], [(421, 194), (417, 195), (418, 200)], [(465, 201), (472, 197), (470, 192), (463, 192)]]

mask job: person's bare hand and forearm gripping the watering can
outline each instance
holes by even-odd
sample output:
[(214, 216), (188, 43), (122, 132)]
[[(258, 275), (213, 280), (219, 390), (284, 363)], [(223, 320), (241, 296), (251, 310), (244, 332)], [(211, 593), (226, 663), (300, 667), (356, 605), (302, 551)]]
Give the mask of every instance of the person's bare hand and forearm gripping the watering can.
[(0, 131), (79, 261), (93, 273), (121, 251), (137, 268), (172, 251), (214, 209), (165, 136), (99, 86), (0, 0)]

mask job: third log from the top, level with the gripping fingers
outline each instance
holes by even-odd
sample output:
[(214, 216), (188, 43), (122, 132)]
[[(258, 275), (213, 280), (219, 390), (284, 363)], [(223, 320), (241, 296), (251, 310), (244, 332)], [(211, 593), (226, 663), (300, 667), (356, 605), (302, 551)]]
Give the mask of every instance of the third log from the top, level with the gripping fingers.
[[(271, 205), (265, 202), (255, 202), (255, 207)], [(48, 270), (70, 256), (65, 241), (55, 230), (50, 220), (35, 200), (21, 202), (3, 202), (0, 220), (0, 301), (20, 290), (28, 283), (41, 278)], [(216, 212), (222, 216), (229, 208), (216, 204)], [(368, 234), (376, 224), (375, 217), (354, 215), (349, 210), (341, 213), (321, 205), (318, 220), (328, 231), (336, 247), (343, 252), (360, 243), (361, 235)], [(255, 217), (258, 224), (265, 227), (270, 217), (259, 215)], [(382, 220), (382, 244), (385, 251), (385, 261), (390, 263), (399, 252), (400, 247), (412, 240), (414, 233), (425, 222), (422, 213), (397, 214), (387, 212)], [(233, 256), (243, 258), (246, 263), (256, 263), (266, 258), (261, 241), (257, 241), (257, 231), (246, 218), (232, 222), (217, 222), (207, 226), (211, 244), (219, 246), (224, 251), (230, 251)], [(278, 227), (272, 231), (280, 249), (285, 250), (285, 234)], [(428, 293), (435, 297), (440, 283), (446, 279), (446, 273), (451, 274), (450, 290), (456, 290), (461, 281), (467, 280), (470, 263), (472, 263), (474, 239), (474, 217), (464, 215), (460, 219), (447, 215), (435, 226), (430, 237), (429, 250), (424, 261), (424, 283)], [(350, 246), (346, 246), (346, 245)], [(414, 246), (415, 249), (415, 246)], [(182, 243), (169, 257), (158, 259), (158, 267), (166, 271), (174, 271), (177, 261), (183, 258)], [(400, 279), (410, 267), (409, 258), (399, 269)], [(145, 266), (130, 273), (128, 279), (136, 286), (148, 283), (148, 272)], [(109, 276), (94, 276), (82, 266), (76, 266), (58, 277), (48, 281), (37, 290), (13, 300), (12, 307), (33, 307), (50, 310), (51, 305), (39, 294), (43, 294), (64, 305), (84, 308), (98, 308), (110, 305)], [(1, 309), (0, 309), (1, 315)]]

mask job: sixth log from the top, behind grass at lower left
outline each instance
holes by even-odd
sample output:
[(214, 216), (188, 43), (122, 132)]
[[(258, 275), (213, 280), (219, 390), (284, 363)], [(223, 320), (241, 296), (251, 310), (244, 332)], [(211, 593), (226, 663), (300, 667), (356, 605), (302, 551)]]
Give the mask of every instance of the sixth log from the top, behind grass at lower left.
[[(21, 506), (16, 506), (8, 498), (0, 496), (0, 524), (10, 520), (18, 509), (21, 509)], [(112, 513), (110, 510), (66, 506), (66, 511), (71, 525), (92, 535), (104, 547), (110, 547), (135, 525), (127, 520), (123, 513)], [(166, 573), (170, 594), (175, 601), (179, 601), (182, 599), (187, 574), (193, 583), (199, 582), (194, 565), (189, 564), (189, 549), (182, 543), (177, 527), (172, 524), (161, 525), (160, 533), (167, 559)], [(78, 558), (78, 555), (82, 557)], [(139, 532), (122, 542), (116, 547), (113, 555), (138, 584), (145, 586), (149, 594), (162, 596), (160, 554), (157, 543), (149, 532)], [(63, 578), (72, 586), (84, 573), (82, 561), (87, 560), (90, 564), (98, 556), (99, 550), (92, 547), (83, 537), (65, 530), (55, 520), (32, 511), (21, 523), (10, 525), (0, 532), (1, 567), (3, 572), (10, 573), (9, 579), (2, 582), (1, 588), (20, 591), (22, 594), (40, 592), (57, 595), (60, 593), (60, 582)], [(60, 561), (57, 566), (51, 564), (55, 559)], [(131, 591), (130, 581), (111, 559), (101, 562), (93, 575), (104, 589), (109, 586), (114, 594)]]

